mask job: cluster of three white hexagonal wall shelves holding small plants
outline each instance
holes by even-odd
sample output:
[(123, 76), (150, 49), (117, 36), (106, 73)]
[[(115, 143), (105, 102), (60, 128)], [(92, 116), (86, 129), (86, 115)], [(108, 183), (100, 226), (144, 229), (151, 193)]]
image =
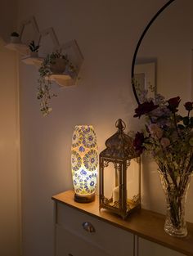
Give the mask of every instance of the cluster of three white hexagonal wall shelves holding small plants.
[(19, 52), (22, 55), (21, 61), (24, 62), (26, 65), (34, 65), (39, 68), (43, 63), (43, 57), (30, 56), (29, 46), (27, 45), (28, 43), (23, 43), (22, 41), (22, 36), (24, 34), (26, 26), (28, 25), (32, 25), (32, 28), (34, 29), (34, 41), (36, 42), (36, 45), (39, 45), (41, 43), (43, 37), (49, 35), (53, 43), (53, 52), (58, 51), (61, 52), (61, 54), (67, 55), (70, 62), (76, 68), (76, 74), (74, 74), (73, 76), (71, 76), (70, 74), (52, 74), (47, 79), (58, 83), (61, 87), (70, 87), (75, 85), (78, 80), (80, 67), (83, 64), (83, 55), (80, 52), (78, 43), (75, 40), (72, 40), (70, 42), (60, 45), (55, 30), (53, 28), (43, 29), (42, 32), (39, 32), (38, 25), (34, 16), (30, 17), (27, 20), (24, 20), (21, 23), (20, 43), (8, 43), (5, 47), (12, 51)]

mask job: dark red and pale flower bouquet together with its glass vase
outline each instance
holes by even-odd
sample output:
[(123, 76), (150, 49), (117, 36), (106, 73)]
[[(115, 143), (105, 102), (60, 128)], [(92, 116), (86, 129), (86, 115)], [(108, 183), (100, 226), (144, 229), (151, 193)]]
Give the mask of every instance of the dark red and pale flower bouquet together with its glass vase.
[(179, 115), (180, 97), (165, 100), (160, 94), (155, 99), (143, 92), (142, 103), (134, 117), (146, 116), (143, 132), (133, 141), (138, 155), (146, 151), (158, 164), (166, 195), (167, 214), (164, 230), (171, 236), (186, 236), (185, 201), (193, 172), (193, 102), (184, 104), (186, 115)]

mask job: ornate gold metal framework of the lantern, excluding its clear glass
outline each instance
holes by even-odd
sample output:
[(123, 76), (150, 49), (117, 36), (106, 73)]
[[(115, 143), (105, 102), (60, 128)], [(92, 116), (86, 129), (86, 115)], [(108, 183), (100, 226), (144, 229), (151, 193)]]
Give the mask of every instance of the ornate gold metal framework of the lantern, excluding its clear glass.
[[(123, 219), (128, 217), (128, 214), (136, 209), (141, 208), (141, 160), (137, 156), (133, 146), (132, 137), (129, 137), (123, 130), (126, 125), (122, 119), (117, 120), (115, 126), (118, 131), (112, 137), (105, 141), (105, 150), (101, 151), (99, 156), (100, 169), (100, 209), (108, 209), (113, 213), (119, 214)], [(137, 161), (139, 172), (138, 195), (134, 195), (132, 199), (127, 198), (127, 171), (131, 164), (131, 160)], [(104, 194), (104, 172), (105, 168), (112, 163), (115, 171), (115, 186), (119, 188), (118, 200), (113, 200), (113, 195), (110, 199)]]

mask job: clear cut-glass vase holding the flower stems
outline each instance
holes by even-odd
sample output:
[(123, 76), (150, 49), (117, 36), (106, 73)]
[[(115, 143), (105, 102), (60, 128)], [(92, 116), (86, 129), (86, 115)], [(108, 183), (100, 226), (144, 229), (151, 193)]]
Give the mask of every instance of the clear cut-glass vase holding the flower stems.
[(170, 236), (184, 237), (187, 235), (185, 204), (191, 173), (176, 175), (159, 171), (159, 174), (167, 207), (164, 231)]

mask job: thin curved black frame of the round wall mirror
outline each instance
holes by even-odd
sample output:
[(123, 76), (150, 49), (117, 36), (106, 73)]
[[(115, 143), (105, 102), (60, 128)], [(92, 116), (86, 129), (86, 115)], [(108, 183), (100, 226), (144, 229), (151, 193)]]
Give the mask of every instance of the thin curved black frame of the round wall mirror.
[(139, 38), (139, 41), (137, 43), (137, 47), (135, 49), (134, 55), (132, 57), (132, 91), (134, 93), (134, 96), (136, 98), (137, 104), (140, 105), (140, 101), (139, 98), (137, 97), (137, 92), (136, 92), (136, 88), (135, 88), (135, 83), (133, 81), (134, 79), (134, 69), (135, 69), (135, 62), (136, 62), (136, 57), (137, 57), (137, 52), (139, 50), (139, 47), (141, 45), (141, 41), (144, 38), (144, 36), (146, 35), (148, 29), (150, 29), (150, 25), (152, 25), (152, 23), (155, 21), (155, 19), (165, 10), (165, 8), (167, 8), (172, 2), (174, 2), (175, 0), (169, 0), (168, 2), (166, 2), (164, 4), (163, 7), (161, 7), (159, 9), (159, 11), (155, 14), (155, 16), (153, 16), (153, 18), (150, 20), (150, 22), (148, 23), (148, 25), (146, 25), (146, 28), (144, 29), (143, 33), (141, 34), (141, 37)]

